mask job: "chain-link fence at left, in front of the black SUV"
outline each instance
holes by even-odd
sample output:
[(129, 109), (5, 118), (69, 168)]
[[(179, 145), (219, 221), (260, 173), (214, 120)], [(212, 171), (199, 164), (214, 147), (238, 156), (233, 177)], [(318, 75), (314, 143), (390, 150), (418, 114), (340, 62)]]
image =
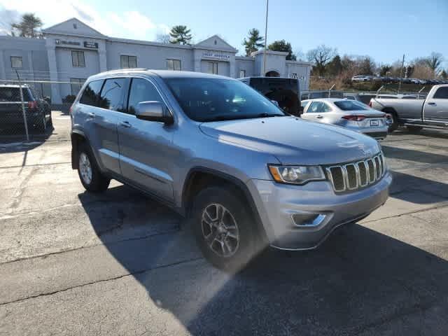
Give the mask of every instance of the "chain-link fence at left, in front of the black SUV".
[[(0, 141), (47, 137), (53, 130), (52, 111), (68, 114), (83, 83), (0, 79)], [(52, 102), (55, 93), (59, 102)]]

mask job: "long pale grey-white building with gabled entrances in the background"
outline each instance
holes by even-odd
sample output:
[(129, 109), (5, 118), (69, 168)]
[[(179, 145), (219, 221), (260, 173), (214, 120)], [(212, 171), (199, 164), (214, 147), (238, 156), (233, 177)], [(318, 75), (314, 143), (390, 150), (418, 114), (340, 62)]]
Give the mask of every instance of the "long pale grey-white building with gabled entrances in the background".
[[(267, 50), (236, 56), (238, 50), (219, 36), (195, 45), (164, 44), (105, 36), (73, 18), (44, 29), (43, 39), (0, 36), (0, 80), (26, 78), (70, 82), (52, 84), (52, 102), (59, 104), (76, 94), (80, 83), (102, 71), (123, 68), (172, 69), (217, 73), (232, 78), (281, 76), (299, 78), (303, 90), (309, 85), (311, 64), (286, 60), (287, 52)], [(48, 90), (50, 90), (48, 88)]]

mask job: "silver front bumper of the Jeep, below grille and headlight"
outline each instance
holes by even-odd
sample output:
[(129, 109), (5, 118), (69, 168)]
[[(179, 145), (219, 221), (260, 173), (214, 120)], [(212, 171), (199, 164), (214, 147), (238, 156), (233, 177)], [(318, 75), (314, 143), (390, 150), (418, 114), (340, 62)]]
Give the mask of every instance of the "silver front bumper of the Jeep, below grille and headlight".
[[(392, 177), (387, 172), (367, 188), (337, 195), (328, 181), (314, 181), (304, 186), (274, 181), (250, 180), (253, 195), (269, 244), (288, 250), (316, 248), (339, 225), (358, 221), (381, 207), (388, 198)], [(312, 225), (299, 226), (295, 214), (316, 214)]]

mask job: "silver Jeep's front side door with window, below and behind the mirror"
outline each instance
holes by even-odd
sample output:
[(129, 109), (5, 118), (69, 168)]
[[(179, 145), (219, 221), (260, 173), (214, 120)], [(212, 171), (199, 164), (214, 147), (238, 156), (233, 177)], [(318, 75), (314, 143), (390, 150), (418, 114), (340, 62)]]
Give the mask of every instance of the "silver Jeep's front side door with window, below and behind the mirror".
[(168, 107), (157, 87), (146, 78), (132, 78), (127, 114), (118, 123), (120, 165), (123, 176), (134, 185), (165, 200), (173, 200), (173, 174), (178, 151), (173, 148), (173, 127), (137, 119), (140, 102), (161, 102)]

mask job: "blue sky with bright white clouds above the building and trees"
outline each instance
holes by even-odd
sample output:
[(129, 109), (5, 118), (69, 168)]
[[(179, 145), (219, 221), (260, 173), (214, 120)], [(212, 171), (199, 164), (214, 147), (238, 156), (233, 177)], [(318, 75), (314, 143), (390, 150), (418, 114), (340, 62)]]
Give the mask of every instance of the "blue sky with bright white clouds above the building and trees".
[[(48, 2), (48, 6), (45, 5)], [(173, 25), (187, 25), (195, 41), (219, 34), (240, 52), (248, 29), (264, 34), (265, 0), (66, 1), (0, 0), (3, 26), (34, 11), (46, 26), (76, 16), (111, 36), (153, 40)], [(1, 29), (1, 26), (0, 26)], [(448, 67), (448, 0), (270, 0), (267, 42), (286, 39), (306, 53), (316, 45), (341, 55), (370, 55), (391, 63), (441, 52)]]

